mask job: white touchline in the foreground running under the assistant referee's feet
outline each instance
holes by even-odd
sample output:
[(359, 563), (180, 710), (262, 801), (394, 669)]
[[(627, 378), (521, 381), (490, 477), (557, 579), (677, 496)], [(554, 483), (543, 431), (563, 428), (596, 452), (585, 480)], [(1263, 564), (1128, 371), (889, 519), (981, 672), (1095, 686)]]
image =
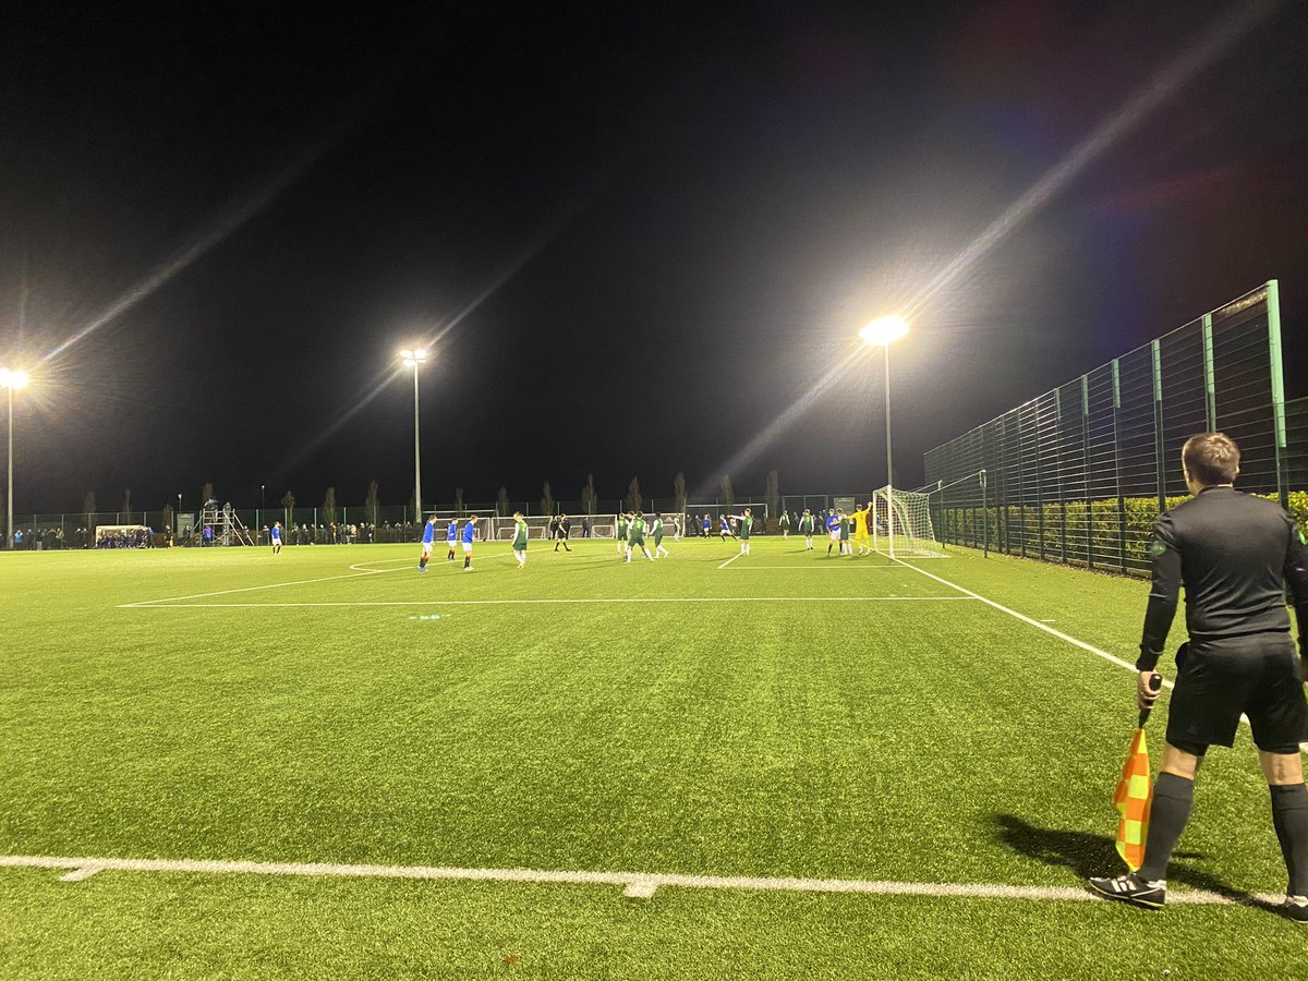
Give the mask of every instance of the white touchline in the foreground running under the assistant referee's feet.
[[(565, 883), (621, 886), (632, 899), (649, 899), (663, 887), (687, 889), (742, 889), (751, 892), (831, 892), (870, 896), (926, 896), (931, 899), (1016, 899), (1093, 903), (1097, 897), (1070, 886), (1005, 886), (997, 883), (888, 882), (875, 879), (804, 879), (738, 875), (679, 875), (675, 872), (587, 872), (551, 869), (455, 869), (443, 866), (328, 865), (323, 862), (221, 862), (161, 858), (65, 858), (55, 855), (0, 855), (10, 869), (68, 869), (64, 882), (82, 882), (97, 872), (188, 872), (195, 875), (298, 875), (347, 879), (428, 879), (462, 882)], [(1254, 897), (1274, 904), (1281, 896)], [(1237, 905), (1215, 892), (1172, 891), (1168, 905)]]

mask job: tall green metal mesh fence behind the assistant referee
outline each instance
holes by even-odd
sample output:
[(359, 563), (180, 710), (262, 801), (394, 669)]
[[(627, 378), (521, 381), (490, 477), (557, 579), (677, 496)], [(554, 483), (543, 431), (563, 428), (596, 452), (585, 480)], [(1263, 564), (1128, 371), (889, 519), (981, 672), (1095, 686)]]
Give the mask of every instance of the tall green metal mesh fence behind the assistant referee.
[(1154, 522), (1188, 494), (1181, 445), (1206, 430), (1240, 443), (1243, 489), (1288, 506), (1308, 487), (1308, 403), (1284, 400), (1275, 280), (930, 450), (938, 532), (1147, 569)]

